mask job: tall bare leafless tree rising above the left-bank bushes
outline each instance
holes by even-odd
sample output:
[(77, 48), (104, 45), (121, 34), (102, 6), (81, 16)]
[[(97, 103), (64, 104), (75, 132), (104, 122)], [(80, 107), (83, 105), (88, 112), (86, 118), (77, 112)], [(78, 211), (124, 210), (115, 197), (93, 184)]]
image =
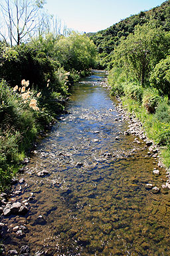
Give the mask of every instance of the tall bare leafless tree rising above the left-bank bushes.
[(20, 45), (33, 35), (37, 31), (44, 3), (44, 0), (3, 0), (0, 3), (3, 17), (0, 35), (3, 40), (11, 46)]

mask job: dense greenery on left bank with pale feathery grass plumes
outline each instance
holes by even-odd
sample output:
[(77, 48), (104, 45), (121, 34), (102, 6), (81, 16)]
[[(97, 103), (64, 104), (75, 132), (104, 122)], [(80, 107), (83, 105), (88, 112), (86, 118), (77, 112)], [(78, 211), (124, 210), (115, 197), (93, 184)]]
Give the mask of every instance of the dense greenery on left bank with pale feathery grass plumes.
[(10, 46), (0, 42), (0, 190), (39, 133), (64, 111), (69, 87), (96, 65), (86, 35), (45, 33)]

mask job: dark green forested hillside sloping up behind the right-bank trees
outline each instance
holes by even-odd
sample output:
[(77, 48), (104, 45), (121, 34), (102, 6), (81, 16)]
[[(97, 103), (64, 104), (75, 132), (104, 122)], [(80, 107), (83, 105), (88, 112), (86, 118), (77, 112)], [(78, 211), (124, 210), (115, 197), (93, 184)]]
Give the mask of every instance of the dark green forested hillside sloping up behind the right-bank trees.
[(155, 24), (156, 27), (163, 27), (165, 31), (170, 31), (170, 0), (149, 11), (131, 15), (108, 29), (87, 35), (98, 47), (102, 64), (106, 65), (110, 61), (110, 53), (114, 50), (115, 45), (120, 43), (121, 37), (128, 37), (130, 33), (133, 33), (135, 25), (143, 25), (148, 22)]

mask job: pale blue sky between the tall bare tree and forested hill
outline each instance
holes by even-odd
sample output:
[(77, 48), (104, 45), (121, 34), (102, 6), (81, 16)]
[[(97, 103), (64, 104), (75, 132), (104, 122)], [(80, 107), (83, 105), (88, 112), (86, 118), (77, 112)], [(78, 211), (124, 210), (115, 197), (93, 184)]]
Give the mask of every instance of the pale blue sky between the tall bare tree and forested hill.
[[(165, 0), (164, 0), (165, 1)], [(130, 15), (161, 5), (161, 0), (46, 0), (44, 8), (78, 32), (97, 32)]]

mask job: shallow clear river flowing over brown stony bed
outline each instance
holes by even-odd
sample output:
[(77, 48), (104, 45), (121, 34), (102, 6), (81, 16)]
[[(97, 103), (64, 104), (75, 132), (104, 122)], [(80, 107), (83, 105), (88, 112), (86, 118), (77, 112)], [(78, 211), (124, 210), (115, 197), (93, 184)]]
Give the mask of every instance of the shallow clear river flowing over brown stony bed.
[[(145, 143), (124, 135), (128, 123), (100, 86), (103, 77), (95, 71), (74, 85), (68, 114), (20, 175), (21, 193), (9, 200), (32, 200), (27, 215), (3, 219), (6, 251), (29, 245), (31, 255), (170, 255), (169, 193), (145, 188), (160, 188), (165, 169), (155, 177)], [(26, 227), (21, 236), (17, 225)]]

